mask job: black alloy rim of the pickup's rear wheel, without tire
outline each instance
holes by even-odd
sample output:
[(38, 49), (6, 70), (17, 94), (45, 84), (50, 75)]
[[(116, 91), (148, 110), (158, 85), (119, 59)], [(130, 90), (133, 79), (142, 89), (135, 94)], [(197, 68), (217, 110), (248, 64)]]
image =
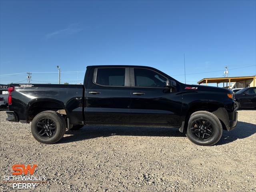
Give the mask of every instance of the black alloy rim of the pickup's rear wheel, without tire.
[(56, 124), (50, 118), (42, 118), (36, 124), (38, 135), (43, 138), (51, 138), (56, 133)]

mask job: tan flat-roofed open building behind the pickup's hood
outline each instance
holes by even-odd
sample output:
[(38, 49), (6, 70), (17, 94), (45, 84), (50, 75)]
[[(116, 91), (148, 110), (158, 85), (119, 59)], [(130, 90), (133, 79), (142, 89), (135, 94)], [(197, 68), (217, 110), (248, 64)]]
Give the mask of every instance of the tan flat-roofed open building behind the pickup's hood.
[[(217, 87), (224, 88), (245, 88), (256, 86), (256, 76), (244, 76), (244, 77), (220, 77), (220, 78), (203, 78), (197, 83), (200, 85), (207, 85), (208, 83), (216, 83)], [(219, 85), (220, 84), (220, 85)], [(223, 84), (223, 86), (222, 86)]]

